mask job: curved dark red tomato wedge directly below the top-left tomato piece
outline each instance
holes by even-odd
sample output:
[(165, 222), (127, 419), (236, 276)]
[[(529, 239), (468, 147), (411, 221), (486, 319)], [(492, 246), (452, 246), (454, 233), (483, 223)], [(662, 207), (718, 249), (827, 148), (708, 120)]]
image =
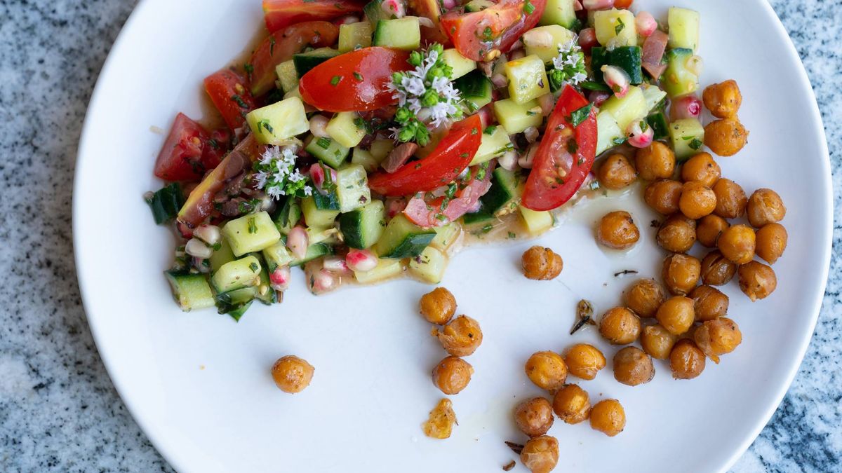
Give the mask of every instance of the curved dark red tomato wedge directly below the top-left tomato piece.
[(338, 26), (327, 21), (307, 21), (279, 29), (263, 40), (252, 54), (249, 64), (251, 91), (254, 97), (269, 92), (274, 87), (277, 74), (274, 69), (307, 45), (322, 47), (333, 45), (339, 35)]

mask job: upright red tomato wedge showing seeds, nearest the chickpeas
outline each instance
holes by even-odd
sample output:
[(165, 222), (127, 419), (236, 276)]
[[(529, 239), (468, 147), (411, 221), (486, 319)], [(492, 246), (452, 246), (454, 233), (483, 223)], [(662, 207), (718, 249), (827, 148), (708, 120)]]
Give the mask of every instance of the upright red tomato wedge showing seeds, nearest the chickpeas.
[(571, 123), (571, 114), (588, 105), (588, 99), (573, 87), (562, 91), (526, 179), (521, 204), (527, 209), (555, 209), (584, 183), (596, 155), (596, 111), (589, 109), (577, 126)]

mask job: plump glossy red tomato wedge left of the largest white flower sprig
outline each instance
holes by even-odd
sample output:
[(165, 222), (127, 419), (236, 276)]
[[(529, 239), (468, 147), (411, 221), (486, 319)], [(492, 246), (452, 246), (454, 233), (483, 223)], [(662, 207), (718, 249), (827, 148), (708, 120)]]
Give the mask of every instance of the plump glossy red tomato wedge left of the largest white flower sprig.
[(301, 77), (307, 104), (329, 112), (376, 110), (397, 104), (388, 88), (392, 72), (408, 71), (409, 53), (384, 47), (354, 50), (328, 59)]

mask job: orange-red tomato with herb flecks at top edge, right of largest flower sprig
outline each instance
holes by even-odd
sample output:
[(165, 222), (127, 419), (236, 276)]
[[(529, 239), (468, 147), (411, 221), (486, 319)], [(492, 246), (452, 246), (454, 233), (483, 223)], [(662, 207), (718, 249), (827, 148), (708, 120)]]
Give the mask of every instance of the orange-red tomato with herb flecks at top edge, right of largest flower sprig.
[(479, 12), (451, 10), (441, 17), (445, 33), (462, 56), (482, 61), (494, 50), (507, 52), (544, 14), (546, 0), (501, 0)]

